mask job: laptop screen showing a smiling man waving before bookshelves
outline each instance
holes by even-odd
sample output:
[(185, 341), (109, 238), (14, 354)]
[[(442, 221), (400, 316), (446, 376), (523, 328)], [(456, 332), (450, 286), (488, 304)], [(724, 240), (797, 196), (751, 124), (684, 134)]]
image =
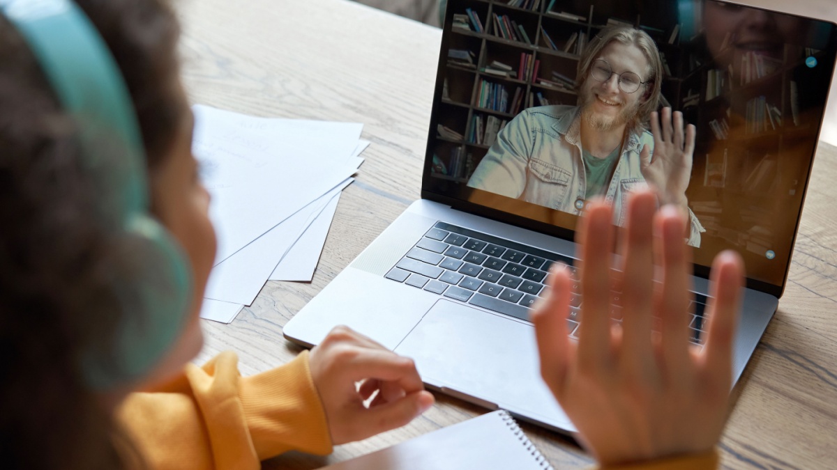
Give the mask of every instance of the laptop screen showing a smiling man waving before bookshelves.
[(650, 187), (698, 273), (732, 248), (783, 286), (835, 51), (832, 23), (714, 0), (449, 0), (423, 192), (566, 237)]

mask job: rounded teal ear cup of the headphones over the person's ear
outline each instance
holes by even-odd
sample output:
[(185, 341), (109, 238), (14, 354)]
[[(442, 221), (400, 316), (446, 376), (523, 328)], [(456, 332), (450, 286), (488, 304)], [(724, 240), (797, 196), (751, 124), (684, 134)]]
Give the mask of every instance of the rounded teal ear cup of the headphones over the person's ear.
[[(113, 279), (121, 322), (104, 346), (83, 360), (88, 385), (97, 390), (141, 379), (180, 337), (192, 306), (191, 268), (171, 234), (146, 215), (126, 232), (135, 266)], [(117, 314), (115, 312), (115, 314)]]

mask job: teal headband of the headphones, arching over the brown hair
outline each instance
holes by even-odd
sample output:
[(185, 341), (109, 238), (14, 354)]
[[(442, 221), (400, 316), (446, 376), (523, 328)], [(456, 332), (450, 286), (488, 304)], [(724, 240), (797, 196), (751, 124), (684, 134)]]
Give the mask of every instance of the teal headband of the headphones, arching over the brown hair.
[(0, 0), (0, 9), (38, 57), (41, 69), (64, 110), (83, 121), (80, 146), (86, 163), (97, 169), (104, 162), (96, 146), (103, 136), (121, 141), (130, 154), (121, 164), (132, 176), (116, 187), (116, 202), (128, 217), (148, 207), (144, 168), (145, 151), (130, 94), (116, 63), (90, 19), (69, 0)]

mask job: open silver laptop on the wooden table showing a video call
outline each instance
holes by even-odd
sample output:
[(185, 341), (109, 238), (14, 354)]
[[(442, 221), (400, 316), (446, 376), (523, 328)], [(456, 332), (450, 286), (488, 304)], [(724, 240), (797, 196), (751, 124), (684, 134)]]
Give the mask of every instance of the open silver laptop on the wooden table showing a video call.
[[(317, 345), (346, 324), (412, 357), (431, 390), (573, 432), (538, 373), (529, 314), (550, 264), (576, 262), (586, 204), (573, 199), (583, 173), (577, 69), (585, 48), (620, 26), (653, 39), (660, 101), (696, 125), (686, 189), (694, 298), (683, 314), (697, 347), (712, 258), (731, 248), (747, 265), (737, 381), (787, 283), (837, 32), (712, 0), (450, 0), (422, 198), (290, 319), (285, 337)], [(643, 182), (628, 162), (650, 134), (634, 134), (603, 190), (617, 213)], [(613, 304), (619, 321), (618, 293)], [(574, 332), (583, 299), (573, 307)]]

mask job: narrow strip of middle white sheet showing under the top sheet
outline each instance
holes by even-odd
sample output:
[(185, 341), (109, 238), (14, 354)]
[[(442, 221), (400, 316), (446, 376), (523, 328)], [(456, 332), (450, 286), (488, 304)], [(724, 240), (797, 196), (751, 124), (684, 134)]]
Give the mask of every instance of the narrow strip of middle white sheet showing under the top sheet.
[(264, 287), (276, 265), (323, 207), (339, 194), (351, 179), (342, 181), (325, 195), (295, 212), (284, 222), (218, 263), (209, 273), (206, 299), (250, 305)]

